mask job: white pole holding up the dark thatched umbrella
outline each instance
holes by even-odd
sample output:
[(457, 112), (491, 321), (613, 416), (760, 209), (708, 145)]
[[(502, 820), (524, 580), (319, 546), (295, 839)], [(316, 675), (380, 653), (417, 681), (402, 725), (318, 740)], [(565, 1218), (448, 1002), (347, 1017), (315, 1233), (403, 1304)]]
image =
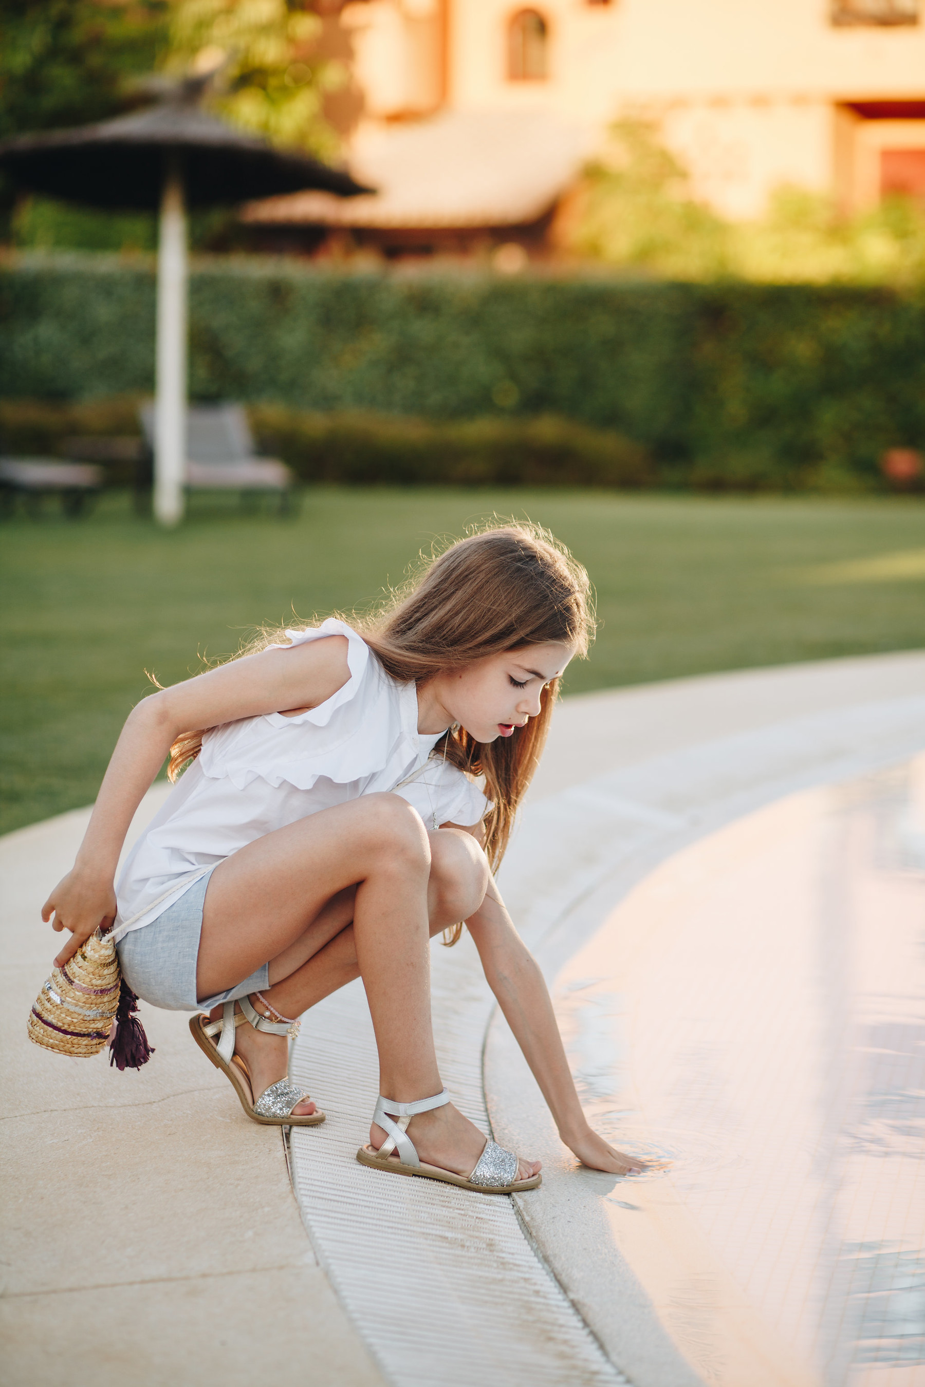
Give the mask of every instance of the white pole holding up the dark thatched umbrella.
[(186, 208), (179, 155), (168, 155), (157, 262), (157, 373), (154, 515), (183, 519), (186, 480)]

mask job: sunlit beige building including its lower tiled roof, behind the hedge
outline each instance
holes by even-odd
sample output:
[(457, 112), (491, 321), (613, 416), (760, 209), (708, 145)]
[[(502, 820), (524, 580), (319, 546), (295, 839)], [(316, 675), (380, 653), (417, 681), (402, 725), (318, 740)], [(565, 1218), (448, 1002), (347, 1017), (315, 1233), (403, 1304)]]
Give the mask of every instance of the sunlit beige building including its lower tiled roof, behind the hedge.
[(275, 200), (252, 219), (336, 221), (373, 237), (412, 222), (453, 234), (478, 223), (495, 243), (508, 225), (526, 244), (555, 203), (551, 168), (564, 190), (621, 114), (656, 119), (696, 194), (731, 218), (759, 216), (781, 184), (832, 194), (846, 211), (889, 191), (925, 198), (922, 10), (925, 0), (352, 0), (340, 24), (365, 114), (351, 165), (381, 194), (327, 200), (330, 219), (323, 196), (301, 211)]

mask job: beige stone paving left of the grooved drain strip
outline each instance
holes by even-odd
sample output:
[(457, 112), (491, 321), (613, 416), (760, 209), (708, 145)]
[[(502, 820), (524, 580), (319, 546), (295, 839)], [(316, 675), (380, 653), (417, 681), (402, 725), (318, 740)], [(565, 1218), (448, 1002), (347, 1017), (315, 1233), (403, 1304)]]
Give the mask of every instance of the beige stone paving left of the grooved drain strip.
[(305, 1236), (279, 1129), (244, 1118), (184, 1013), (141, 1007), (157, 1054), (137, 1072), (26, 1040), (57, 939), (39, 910), (87, 818), (0, 839), (4, 1383), (252, 1387), (302, 1363), (315, 1383), (376, 1387)]

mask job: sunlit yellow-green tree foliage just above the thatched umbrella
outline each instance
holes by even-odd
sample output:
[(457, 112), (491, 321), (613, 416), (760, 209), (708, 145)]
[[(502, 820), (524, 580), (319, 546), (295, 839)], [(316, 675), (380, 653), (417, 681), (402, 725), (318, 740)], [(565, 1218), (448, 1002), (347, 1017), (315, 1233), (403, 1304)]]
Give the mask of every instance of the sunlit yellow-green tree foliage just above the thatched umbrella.
[(173, 0), (169, 71), (216, 71), (214, 110), (276, 144), (337, 153), (325, 96), (348, 80), (319, 49), (323, 22), (298, 0)]

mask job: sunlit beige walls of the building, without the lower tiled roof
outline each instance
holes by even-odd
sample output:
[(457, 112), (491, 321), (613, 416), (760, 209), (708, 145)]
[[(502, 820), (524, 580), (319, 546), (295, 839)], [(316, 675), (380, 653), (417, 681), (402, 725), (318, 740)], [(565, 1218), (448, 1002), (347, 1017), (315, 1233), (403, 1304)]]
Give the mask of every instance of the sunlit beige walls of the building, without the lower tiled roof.
[[(919, 0), (368, 0), (349, 4), (379, 119), (555, 112), (588, 135), (625, 110), (664, 123), (700, 194), (753, 216), (779, 183), (860, 205), (925, 193)], [(900, 151), (914, 150), (908, 158)], [(883, 157), (882, 151), (889, 151)], [(899, 153), (899, 157), (896, 153)]]

